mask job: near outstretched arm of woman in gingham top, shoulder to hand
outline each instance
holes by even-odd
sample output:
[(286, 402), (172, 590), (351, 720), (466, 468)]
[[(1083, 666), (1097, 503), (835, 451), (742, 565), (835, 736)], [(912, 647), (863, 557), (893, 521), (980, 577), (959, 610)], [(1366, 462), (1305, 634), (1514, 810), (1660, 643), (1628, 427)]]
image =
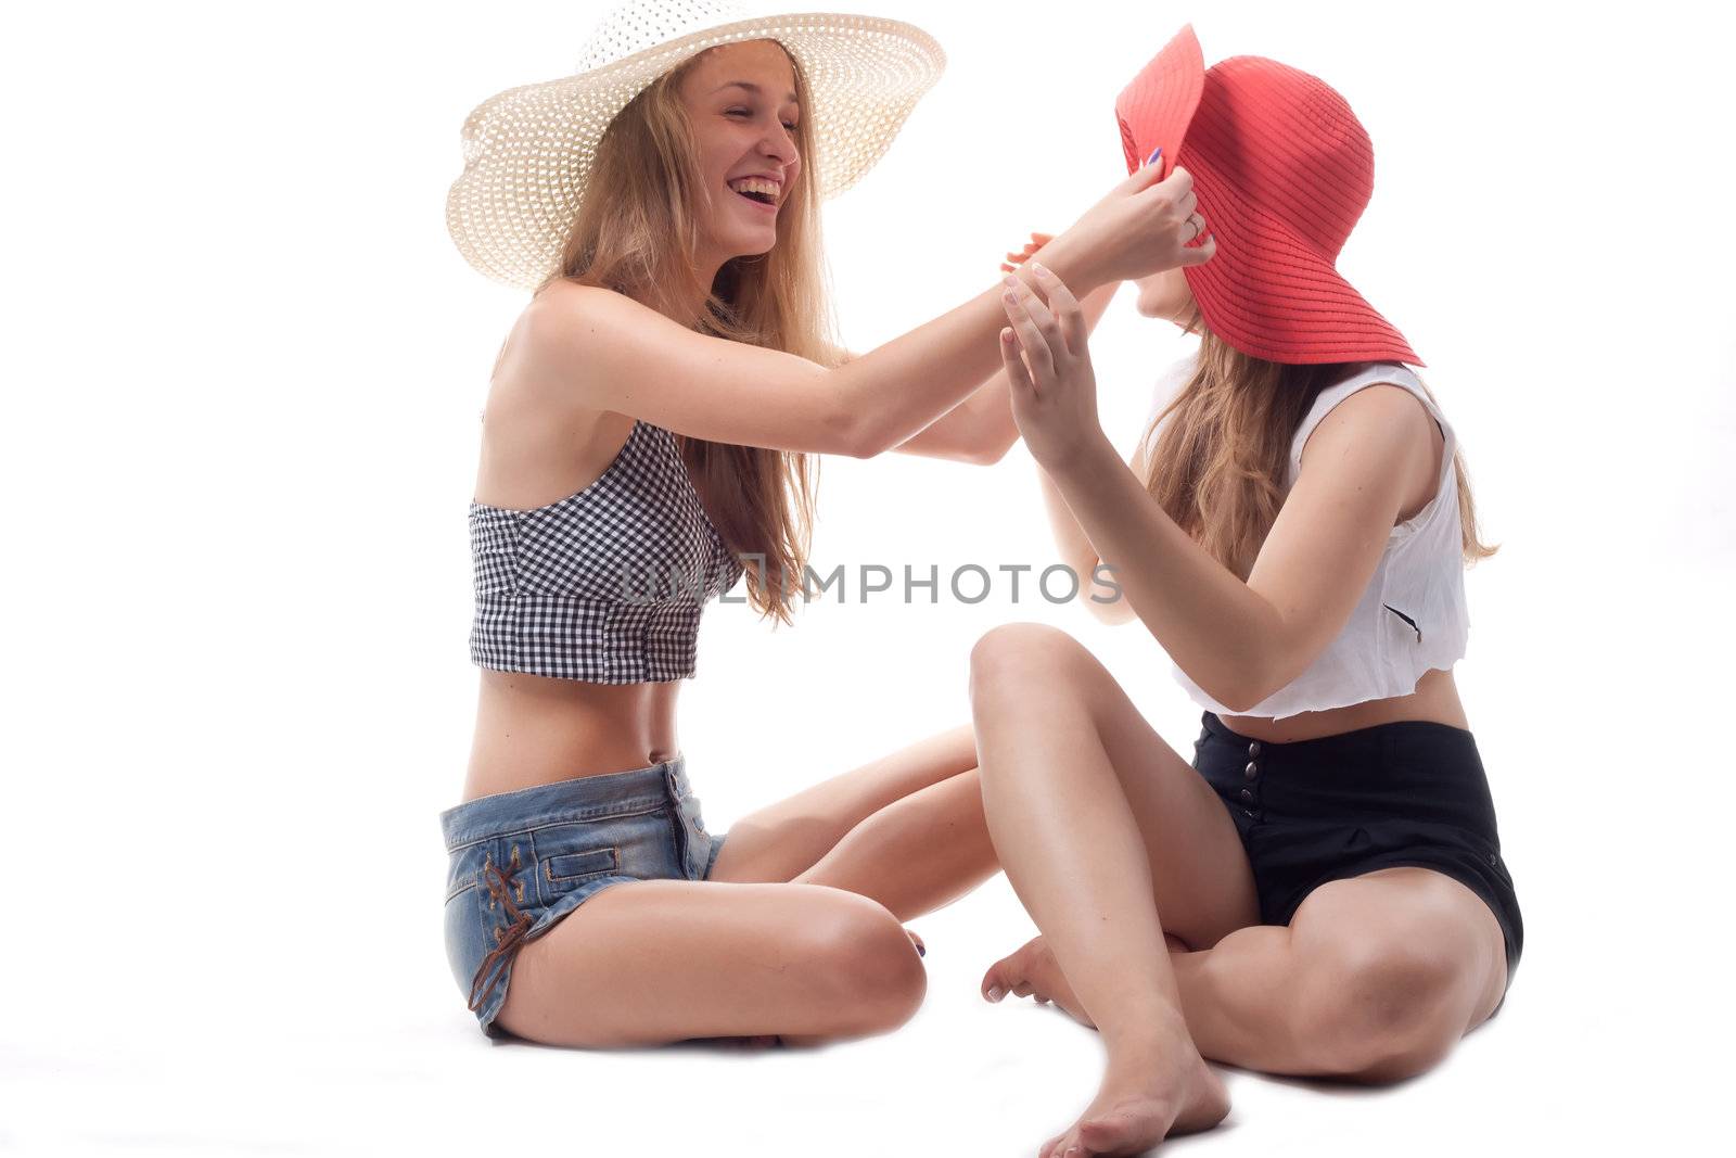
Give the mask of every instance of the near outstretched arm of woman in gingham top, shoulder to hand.
[[(1049, 260), (1088, 288), (1208, 257), (1191, 233), (1186, 170), (1146, 165), (1064, 234)], [(1014, 281), (1029, 278), (1021, 269)], [(868, 458), (958, 405), (995, 373), (1005, 319), (996, 285), (828, 370), (795, 354), (712, 339), (595, 286), (556, 283), (524, 311), (529, 382), (592, 408), (719, 443)]]

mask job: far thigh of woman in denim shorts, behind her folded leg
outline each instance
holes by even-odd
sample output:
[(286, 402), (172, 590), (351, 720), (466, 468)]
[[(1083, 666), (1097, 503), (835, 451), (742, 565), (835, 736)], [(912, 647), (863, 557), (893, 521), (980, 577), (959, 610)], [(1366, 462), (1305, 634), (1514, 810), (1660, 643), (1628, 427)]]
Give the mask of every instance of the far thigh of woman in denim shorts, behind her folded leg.
[(795, 880), (873, 813), (972, 767), (965, 724), (804, 788), (733, 823), (708, 880)]

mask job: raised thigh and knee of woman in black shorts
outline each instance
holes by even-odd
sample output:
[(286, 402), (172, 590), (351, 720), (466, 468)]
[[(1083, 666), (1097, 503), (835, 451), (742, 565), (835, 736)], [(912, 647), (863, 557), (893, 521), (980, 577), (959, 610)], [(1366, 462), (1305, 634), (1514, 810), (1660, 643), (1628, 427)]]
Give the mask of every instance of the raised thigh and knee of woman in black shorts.
[(1083, 644), (1052, 627), (1014, 623), (977, 649), (972, 679), (1012, 681), (1019, 726), (1038, 726), (1050, 703), (1087, 714), (1144, 837), (1165, 932), (1203, 950), (1259, 924), (1253, 870), (1229, 809)]

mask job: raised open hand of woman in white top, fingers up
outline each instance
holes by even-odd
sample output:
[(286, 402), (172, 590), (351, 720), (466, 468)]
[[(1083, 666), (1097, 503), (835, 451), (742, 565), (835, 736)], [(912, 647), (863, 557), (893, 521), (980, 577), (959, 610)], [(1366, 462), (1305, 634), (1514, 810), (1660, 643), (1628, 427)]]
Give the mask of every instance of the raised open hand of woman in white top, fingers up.
[(1010, 326), (1000, 332), (1000, 359), (1012, 387), (1012, 418), (1036, 462), (1054, 470), (1108, 439), (1097, 420), (1097, 378), (1080, 304), (1042, 264), (1031, 262), (1031, 273), (1049, 300), (1007, 278), (1002, 306)]

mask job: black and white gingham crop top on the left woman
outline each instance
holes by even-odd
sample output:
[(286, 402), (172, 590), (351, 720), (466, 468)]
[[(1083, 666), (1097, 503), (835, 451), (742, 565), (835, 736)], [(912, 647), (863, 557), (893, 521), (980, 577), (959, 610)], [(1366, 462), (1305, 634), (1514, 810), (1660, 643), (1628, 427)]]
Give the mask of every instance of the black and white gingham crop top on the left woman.
[(693, 675), (700, 609), (741, 578), (675, 436), (634, 422), (602, 476), (535, 510), (470, 503), (470, 660), (641, 684)]

